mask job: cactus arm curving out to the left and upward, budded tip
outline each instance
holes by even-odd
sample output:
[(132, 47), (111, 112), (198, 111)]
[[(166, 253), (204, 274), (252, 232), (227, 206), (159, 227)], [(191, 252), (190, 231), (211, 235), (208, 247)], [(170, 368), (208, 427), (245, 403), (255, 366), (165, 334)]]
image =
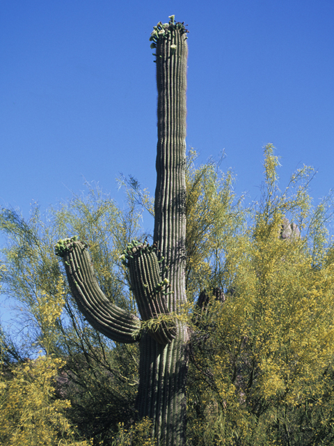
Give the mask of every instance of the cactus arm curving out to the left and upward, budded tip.
[(87, 245), (76, 237), (59, 240), (56, 255), (63, 258), (68, 283), (79, 310), (96, 330), (116, 342), (132, 343), (141, 337), (141, 321), (113, 305), (94, 275)]

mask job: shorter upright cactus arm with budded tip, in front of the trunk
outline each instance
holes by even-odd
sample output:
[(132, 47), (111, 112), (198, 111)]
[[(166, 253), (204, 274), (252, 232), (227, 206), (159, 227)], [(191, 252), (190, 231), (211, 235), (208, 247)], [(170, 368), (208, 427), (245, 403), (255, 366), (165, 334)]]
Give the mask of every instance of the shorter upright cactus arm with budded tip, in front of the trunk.
[[(169, 280), (161, 279), (156, 247), (150, 246), (147, 242), (139, 243), (137, 240), (132, 240), (121, 258), (123, 264), (129, 268), (130, 284), (143, 321), (169, 315), (166, 295), (173, 294), (173, 291), (168, 291)], [(149, 332), (159, 344), (170, 344), (175, 339), (175, 323), (167, 323), (162, 318), (157, 330)]]

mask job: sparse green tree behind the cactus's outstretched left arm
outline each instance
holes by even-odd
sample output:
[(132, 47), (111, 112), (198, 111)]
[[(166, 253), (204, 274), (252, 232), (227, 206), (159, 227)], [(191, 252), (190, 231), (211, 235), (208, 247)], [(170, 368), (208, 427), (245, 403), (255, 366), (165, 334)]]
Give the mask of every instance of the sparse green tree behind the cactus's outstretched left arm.
[(33, 208), (28, 221), (13, 210), (0, 213), (8, 240), (2, 251), (1, 283), (18, 310), (11, 327), (15, 342), (5, 332), (1, 336), (6, 347), (3, 359), (15, 363), (35, 357), (40, 349), (62, 358), (67, 378), (62, 380), (61, 394), (72, 402), (67, 420), (96, 444), (107, 444), (118, 422), (135, 417), (138, 347), (116, 345), (88, 325), (72, 300), (53, 245), (66, 233), (89, 240), (100, 287), (111, 302), (135, 312), (119, 256), (122, 240), (142, 236), (139, 217), (132, 203), (122, 211), (92, 187), (88, 194), (49, 210), (47, 217), (38, 208)]

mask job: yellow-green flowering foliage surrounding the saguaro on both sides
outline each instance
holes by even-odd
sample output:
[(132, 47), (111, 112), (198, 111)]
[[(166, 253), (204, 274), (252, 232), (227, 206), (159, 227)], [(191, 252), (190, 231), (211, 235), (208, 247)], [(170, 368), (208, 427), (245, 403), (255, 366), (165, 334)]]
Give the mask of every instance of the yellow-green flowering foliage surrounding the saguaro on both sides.
[[(331, 445), (331, 197), (312, 207), (308, 167), (297, 171), (280, 192), (278, 158), (269, 145), (260, 203), (243, 208), (234, 197), (232, 175), (223, 175), (214, 162), (196, 169), (195, 156), (191, 152), (186, 169), (190, 304), (182, 314), (164, 316), (179, 318), (192, 331), (186, 444)], [(90, 189), (86, 197), (73, 197), (51, 210), (47, 220), (37, 208), (28, 222), (13, 210), (1, 213), (1, 229), (8, 236), (1, 263), (3, 292), (22, 309), (18, 328), (27, 327), (21, 342), (1, 334), (6, 346), (0, 410), (5, 445), (37, 445), (32, 425), (40, 426), (41, 438), (51, 438), (45, 444), (61, 439), (74, 445), (90, 437), (95, 445), (154, 444), (150, 420), (136, 424), (137, 345), (114, 344), (84, 321), (52, 254), (58, 238), (79, 234), (90, 245), (104, 293), (136, 312), (120, 254), (128, 240), (143, 240), (138, 217), (145, 208), (152, 211), (152, 199), (138, 183), (133, 186), (127, 184), (125, 212)], [(298, 224), (300, 237), (280, 237), (285, 218)], [(207, 303), (198, 307), (196, 298), (203, 289)], [(215, 298), (215, 289), (224, 293), (224, 302)], [(157, 330), (161, 322), (170, 322), (164, 317), (143, 327)], [(33, 357), (40, 348), (47, 358), (22, 363), (22, 357)], [(44, 401), (39, 412), (34, 409), (38, 401)], [(24, 418), (29, 407), (30, 418)], [(13, 423), (23, 428), (15, 431)], [(15, 443), (14, 435), (21, 435), (22, 443)]]

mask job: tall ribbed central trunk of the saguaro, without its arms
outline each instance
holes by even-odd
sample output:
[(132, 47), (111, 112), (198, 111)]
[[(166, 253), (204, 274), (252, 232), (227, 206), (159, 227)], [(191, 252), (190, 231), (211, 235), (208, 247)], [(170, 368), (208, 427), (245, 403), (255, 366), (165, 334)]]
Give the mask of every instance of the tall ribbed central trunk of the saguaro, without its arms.
[[(169, 312), (180, 314), (185, 289), (186, 33), (182, 24), (159, 26), (157, 45), (158, 144), (154, 243), (173, 294)], [(159, 30), (158, 28), (158, 30)], [(165, 31), (162, 35), (161, 30)], [(170, 33), (168, 33), (170, 31)], [(176, 47), (174, 46), (176, 45)], [(154, 46), (154, 45), (153, 45)], [(164, 278), (164, 277), (163, 277)], [(186, 326), (177, 322), (171, 344), (141, 339), (138, 410), (153, 420), (158, 445), (183, 445), (185, 430)], [(161, 442), (161, 443), (159, 443)]]

